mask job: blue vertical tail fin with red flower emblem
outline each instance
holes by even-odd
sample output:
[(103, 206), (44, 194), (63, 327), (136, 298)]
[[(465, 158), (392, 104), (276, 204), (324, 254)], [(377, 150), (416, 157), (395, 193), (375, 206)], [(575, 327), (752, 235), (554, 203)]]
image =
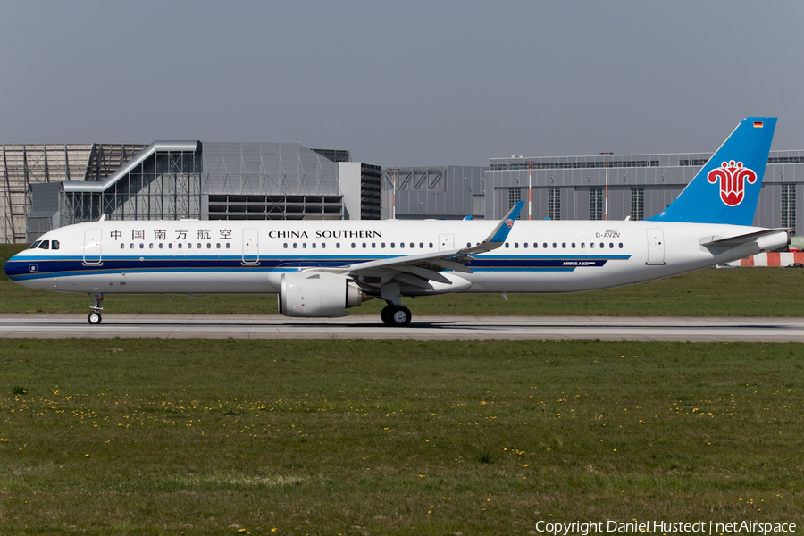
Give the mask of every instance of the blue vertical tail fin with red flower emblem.
[(742, 120), (679, 197), (647, 219), (750, 225), (775, 128), (775, 117)]

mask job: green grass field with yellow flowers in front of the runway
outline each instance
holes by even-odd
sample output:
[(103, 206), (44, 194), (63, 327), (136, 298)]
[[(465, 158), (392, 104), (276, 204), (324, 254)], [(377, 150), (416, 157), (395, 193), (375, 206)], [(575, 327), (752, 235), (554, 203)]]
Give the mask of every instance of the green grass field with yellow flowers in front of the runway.
[(797, 344), (3, 339), (0, 533), (804, 523), (802, 388)]

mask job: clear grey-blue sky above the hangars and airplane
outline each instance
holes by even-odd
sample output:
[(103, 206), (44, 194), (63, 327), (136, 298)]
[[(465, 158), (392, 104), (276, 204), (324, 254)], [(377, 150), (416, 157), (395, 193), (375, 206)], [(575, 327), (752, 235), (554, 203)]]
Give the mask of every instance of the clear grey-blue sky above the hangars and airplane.
[(0, 4), (0, 143), (300, 142), (383, 167), (804, 149), (804, 2)]

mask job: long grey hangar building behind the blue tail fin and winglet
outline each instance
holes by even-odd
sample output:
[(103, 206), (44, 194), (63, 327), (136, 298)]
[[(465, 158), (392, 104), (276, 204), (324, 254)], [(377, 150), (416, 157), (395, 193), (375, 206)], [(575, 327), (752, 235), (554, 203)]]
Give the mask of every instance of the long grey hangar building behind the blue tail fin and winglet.
[[(608, 172), (609, 219), (642, 220), (664, 210), (712, 155), (512, 156), (491, 158), (488, 168), (386, 168), (382, 216), (395, 211), (399, 219), (498, 219), (517, 201), (527, 201), (530, 187), (522, 218), (603, 220)], [(802, 197), (804, 151), (771, 151), (754, 224), (804, 225)]]

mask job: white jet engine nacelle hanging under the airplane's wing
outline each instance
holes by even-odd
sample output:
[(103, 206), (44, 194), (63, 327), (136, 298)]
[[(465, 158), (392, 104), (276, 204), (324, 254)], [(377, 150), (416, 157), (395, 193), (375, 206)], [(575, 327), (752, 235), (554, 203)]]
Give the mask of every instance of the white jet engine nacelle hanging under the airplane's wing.
[(364, 301), (363, 291), (345, 275), (327, 272), (282, 274), (279, 310), (285, 316), (343, 316)]

